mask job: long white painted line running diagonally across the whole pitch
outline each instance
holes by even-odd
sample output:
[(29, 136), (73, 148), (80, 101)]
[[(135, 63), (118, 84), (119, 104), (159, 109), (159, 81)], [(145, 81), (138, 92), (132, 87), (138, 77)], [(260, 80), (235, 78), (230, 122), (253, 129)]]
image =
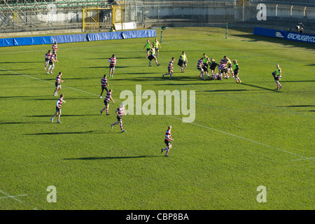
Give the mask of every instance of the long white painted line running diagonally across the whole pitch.
[[(25, 75), (25, 74), (22, 74), (22, 73), (17, 73), (17, 72), (15, 72), (15, 71), (10, 71), (10, 70), (6, 70), (6, 69), (2, 69), (2, 68), (0, 68), (0, 69), (3, 70), (3, 71), (9, 71), (9, 72), (11, 72), (11, 73), (16, 73), (16, 74), (18, 74), (18, 75), (26, 76), (26, 77), (29, 77), (29, 78), (34, 78), (34, 79), (36, 79), (36, 80), (43, 80), (43, 79), (41, 79), (41, 78), (35, 78), (35, 77), (33, 77), (33, 76), (28, 76), (28, 75)], [(49, 82), (49, 81), (47, 81), (47, 80), (43, 80), (43, 81), (45, 81), (46, 83), (52, 83), (52, 82)], [(64, 85), (63, 85), (63, 86), (64, 86)], [(67, 87), (67, 86), (64, 86), (64, 87)], [(77, 90), (77, 91), (80, 91), (80, 92), (85, 92), (85, 93), (87, 93), (87, 94), (92, 94), (92, 95), (94, 95), (94, 96), (99, 96), (98, 94), (94, 94), (94, 93), (92, 93), (92, 92), (86, 92), (86, 91), (84, 91), (84, 90), (79, 90), (79, 89), (76, 89), (76, 88), (74, 88), (74, 87), (67, 87), (67, 88), (70, 88), (70, 89), (72, 89), (72, 90)], [(122, 101), (117, 100), (117, 99), (116, 99), (116, 101), (122, 102)], [(134, 105), (134, 106), (136, 106), (136, 105)], [(137, 106), (136, 106), (136, 107), (137, 107)], [(140, 107), (140, 106), (138, 106), (138, 107)], [(141, 108), (142, 108), (142, 107), (141, 107)], [(149, 111), (150, 111), (150, 110), (149, 110)], [(181, 118), (176, 118), (176, 117), (174, 117), (174, 116), (169, 116), (169, 115), (166, 115), (166, 114), (165, 114), (165, 116), (168, 116), (169, 118), (174, 118), (174, 119), (176, 119), (176, 120), (182, 120)], [(277, 150), (277, 151), (281, 151), (281, 152), (283, 152), (283, 153), (288, 153), (288, 154), (291, 154), (291, 155), (296, 155), (296, 156), (302, 158), (302, 160), (313, 160), (313, 161), (314, 161), (314, 158), (307, 158), (307, 157), (305, 157), (305, 156), (303, 156), (303, 155), (299, 155), (299, 154), (296, 154), (296, 153), (291, 153), (291, 152), (285, 151), (285, 150), (283, 150), (283, 149), (281, 149), (281, 148), (275, 148), (275, 147), (273, 147), (273, 146), (268, 146), (268, 145), (262, 144), (262, 143), (260, 143), (260, 142), (258, 142), (258, 141), (253, 141), (253, 140), (251, 140), (251, 139), (246, 139), (246, 138), (244, 138), (244, 137), (240, 137), (240, 136), (237, 136), (237, 135), (235, 135), (235, 134), (230, 134), (230, 133), (228, 133), (228, 132), (223, 132), (223, 131), (221, 131), (221, 130), (216, 130), (216, 129), (212, 128), (212, 127), (207, 127), (207, 126), (200, 125), (200, 124), (197, 124), (197, 123), (190, 123), (190, 124), (196, 125), (196, 126), (200, 126), (200, 127), (204, 127), (204, 128), (209, 129), (209, 130), (216, 131), (216, 132), (221, 132), (221, 133), (223, 133), (223, 134), (227, 134), (227, 135), (230, 135), (230, 136), (232, 136), (232, 137), (236, 137), (236, 138), (239, 138), (239, 139), (243, 139), (243, 140), (245, 140), (245, 141), (250, 141), (250, 142), (252, 142), (252, 143), (254, 143), (254, 144), (258, 144), (258, 145), (260, 145), (260, 146), (265, 146), (265, 147), (268, 147), (268, 148), (273, 148), (273, 149), (275, 149), (275, 150)], [(292, 160), (290, 160), (290, 161), (292, 161)]]

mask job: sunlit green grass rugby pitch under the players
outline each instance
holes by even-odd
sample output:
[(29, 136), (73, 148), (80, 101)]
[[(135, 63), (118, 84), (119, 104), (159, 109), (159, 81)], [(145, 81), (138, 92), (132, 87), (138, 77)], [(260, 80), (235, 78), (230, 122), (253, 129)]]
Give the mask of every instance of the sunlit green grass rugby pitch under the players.
[[(49, 75), (43, 67), (50, 44), (0, 48), (0, 209), (315, 209), (314, 45), (235, 29), (226, 39), (225, 29), (173, 28), (163, 31), (161, 66), (149, 67), (145, 43), (59, 43)], [(181, 73), (183, 50), (188, 67)], [(203, 53), (237, 59), (242, 83), (201, 80)], [(105, 116), (100, 80), (112, 54), (116, 102)], [(173, 78), (162, 78), (172, 57)], [(274, 90), (276, 64), (282, 90)], [(50, 122), (59, 71), (61, 124)], [(136, 85), (156, 94), (195, 90), (195, 120), (127, 115), (127, 132), (112, 130), (125, 100), (120, 92), (135, 94)], [(174, 138), (169, 158), (160, 152), (167, 125)], [(55, 203), (47, 201), (48, 186), (57, 189)], [(267, 189), (267, 202), (256, 200), (258, 186)]]

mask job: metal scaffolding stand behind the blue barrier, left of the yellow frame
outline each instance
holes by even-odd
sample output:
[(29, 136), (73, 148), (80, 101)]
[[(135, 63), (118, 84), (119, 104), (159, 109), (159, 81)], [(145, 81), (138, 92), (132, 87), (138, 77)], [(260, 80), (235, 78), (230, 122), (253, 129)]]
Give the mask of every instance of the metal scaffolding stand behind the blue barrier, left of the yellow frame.
[(108, 0), (2, 0), (0, 32), (81, 29), (83, 8), (105, 8), (112, 3)]

